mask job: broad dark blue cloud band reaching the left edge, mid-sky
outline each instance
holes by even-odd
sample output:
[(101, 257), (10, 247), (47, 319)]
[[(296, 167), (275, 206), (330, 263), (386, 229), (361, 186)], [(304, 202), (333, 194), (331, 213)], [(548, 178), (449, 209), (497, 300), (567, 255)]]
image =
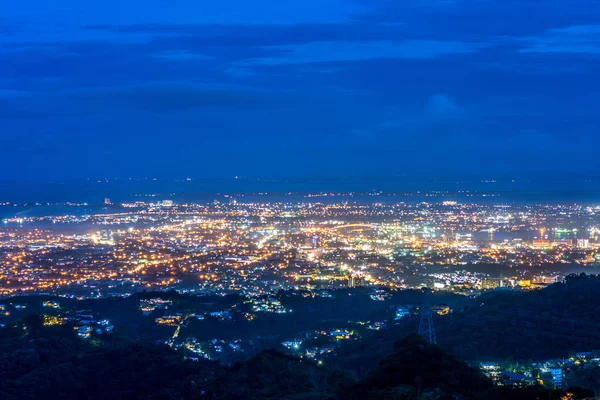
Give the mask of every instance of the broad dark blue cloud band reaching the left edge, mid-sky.
[(92, 115), (100, 119), (112, 119), (111, 115), (136, 118), (139, 111), (172, 114), (197, 109), (229, 110), (239, 115), (243, 110), (294, 107), (301, 100), (302, 95), (285, 90), (193, 81), (74, 87), (47, 92), (0, 90), (0, 120), (64, 122)]

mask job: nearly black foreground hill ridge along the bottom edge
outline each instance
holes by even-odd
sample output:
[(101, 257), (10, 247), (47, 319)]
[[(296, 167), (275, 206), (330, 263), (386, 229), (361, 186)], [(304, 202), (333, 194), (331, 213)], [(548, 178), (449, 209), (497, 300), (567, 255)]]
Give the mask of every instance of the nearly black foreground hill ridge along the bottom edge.
[(264, 351), (223, 367), (190, 361), (166, 346), (107, 337), (83, 342), (68, 326), (32, 315), (0, 329), (2, 399), (561, 399), (586, 398), (540, 387), (497, 388), (480, 372), (411, 335), (362, 380)]

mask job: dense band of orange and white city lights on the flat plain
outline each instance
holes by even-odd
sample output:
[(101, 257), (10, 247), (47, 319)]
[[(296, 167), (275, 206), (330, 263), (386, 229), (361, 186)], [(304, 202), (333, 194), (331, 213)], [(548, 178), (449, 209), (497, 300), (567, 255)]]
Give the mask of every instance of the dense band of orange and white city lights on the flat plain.
[(0, 294), (426, 286), (476, 295), (539, 289), (600, 265), (600, 207), (243, 198), (7, 218)]

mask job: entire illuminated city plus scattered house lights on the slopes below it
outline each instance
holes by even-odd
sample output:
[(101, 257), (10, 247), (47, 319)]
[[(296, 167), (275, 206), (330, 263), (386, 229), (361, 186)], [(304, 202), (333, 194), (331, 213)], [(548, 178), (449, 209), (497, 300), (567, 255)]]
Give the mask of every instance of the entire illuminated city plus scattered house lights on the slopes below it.
[(188, 362), (231, 364), (274, 347), (335, 366), (356, 344), (414, 332), (430, 310), (425, 329), (437, 330), (443, 346), (460, 327), (499, 321), (526, 335), (587, 346), (560, 359), (548, 355), (565, 354), (569, 341), (531, 356), (524, 348), (513, 351), (535, 363), (493, 361), (493, 350), (468, 355), (499, 387), (560, 388), (566, 377), (579, 379), (573, 377), (584, 366), (600, 368), (600, 353), (590, 345), (596, 336), (579, 337), (572, 329), (580, 322), (566, 327), (558, 309), (548, 319), (551, 314), (511, 311), (514, 305), (490, 297), (477, 319), (467, 311), (483, 306), (486, 295), (542, 293), (597, 273), (600, 206), (448, 196), (419, 193), (427, 199), (421, 201), (410, 194), (315, 192), (105, 200), (101, 206), (7, 202), (5, 215), (44, 208), (1, 221), (0, 325), (36, 312), (43, 326), (70, 327), (83, 342), (151, 338)]

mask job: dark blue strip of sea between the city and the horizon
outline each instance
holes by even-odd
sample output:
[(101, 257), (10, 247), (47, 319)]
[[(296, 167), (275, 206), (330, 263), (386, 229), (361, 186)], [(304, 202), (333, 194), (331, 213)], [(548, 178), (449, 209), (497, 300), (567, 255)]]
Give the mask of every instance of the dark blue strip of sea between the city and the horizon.
[[(323, 196), (307, 197), (321, 193)], [(353, 195), (340, 196), (341, 193)], [(327, 196), (324, 196), (327, 194)], [(333, 196), (332, 196), (333, 195)], [(106, 212), (113, 203), (173, 200), (357, 201), (416, 203), (456, 200), (485, 204), (600, 204), (600, 177), (586, 175), (359, 178), (86, 179), (0, 182), (0, 218)], [(69, 206), (64, 203), (87, 203)], [(13, 204), (17, 203), (18, 206)], [(36, 205), (39, 203), (41, 205)], [(51, 205), (47, 205), (50, 203)]]

